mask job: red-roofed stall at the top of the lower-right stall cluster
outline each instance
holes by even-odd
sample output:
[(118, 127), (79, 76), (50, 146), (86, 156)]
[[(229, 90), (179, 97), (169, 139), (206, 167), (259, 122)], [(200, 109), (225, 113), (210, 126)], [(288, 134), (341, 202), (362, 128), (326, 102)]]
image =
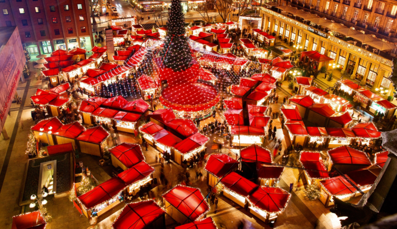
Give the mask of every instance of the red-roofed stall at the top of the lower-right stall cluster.
[(348, 146), (341, 146), (328, 151), (330, 166), (335, 166), (342, 173), (372, 166), (365, 152)]

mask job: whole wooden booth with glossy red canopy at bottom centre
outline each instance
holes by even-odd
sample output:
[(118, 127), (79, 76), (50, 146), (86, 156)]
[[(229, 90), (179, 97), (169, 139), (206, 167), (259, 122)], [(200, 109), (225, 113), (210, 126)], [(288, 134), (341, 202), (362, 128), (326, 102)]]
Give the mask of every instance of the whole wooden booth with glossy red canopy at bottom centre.
[(178, 223), (206, 217), (210, 206), (198, 188), (177, 185), (162, 195), (166, 213)]

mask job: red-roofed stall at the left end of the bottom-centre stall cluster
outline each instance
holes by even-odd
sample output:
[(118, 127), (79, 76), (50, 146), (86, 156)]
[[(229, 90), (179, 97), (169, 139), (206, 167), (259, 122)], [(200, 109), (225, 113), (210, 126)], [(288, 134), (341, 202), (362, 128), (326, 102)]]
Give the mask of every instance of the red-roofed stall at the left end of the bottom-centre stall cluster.
[(207, 184), (214, 187), (219, 178), (223, 177), (229, 171), (234, 171), (238, 167), (235, 159), (226, 154), (212, 154), (204, 169), (208, 172)]

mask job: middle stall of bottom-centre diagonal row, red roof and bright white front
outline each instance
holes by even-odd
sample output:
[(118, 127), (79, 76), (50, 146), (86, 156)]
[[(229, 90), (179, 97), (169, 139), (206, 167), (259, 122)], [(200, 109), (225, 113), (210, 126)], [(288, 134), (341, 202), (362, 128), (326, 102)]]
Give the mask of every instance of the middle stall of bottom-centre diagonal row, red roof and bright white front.
[(259, 187), (234, 171), (224, 176), (220, 183), (223, 185), (223, 195), (243, 208), (247, 205), (246, 197)]

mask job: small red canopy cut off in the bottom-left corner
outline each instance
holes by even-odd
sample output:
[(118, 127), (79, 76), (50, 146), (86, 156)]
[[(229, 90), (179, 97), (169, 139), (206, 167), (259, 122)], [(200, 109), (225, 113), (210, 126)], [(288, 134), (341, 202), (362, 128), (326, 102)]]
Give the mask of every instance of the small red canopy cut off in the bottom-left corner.
[(40, 211), (25, 213), (12, 217), (12, 229), (44, 229), (47, 223)]

